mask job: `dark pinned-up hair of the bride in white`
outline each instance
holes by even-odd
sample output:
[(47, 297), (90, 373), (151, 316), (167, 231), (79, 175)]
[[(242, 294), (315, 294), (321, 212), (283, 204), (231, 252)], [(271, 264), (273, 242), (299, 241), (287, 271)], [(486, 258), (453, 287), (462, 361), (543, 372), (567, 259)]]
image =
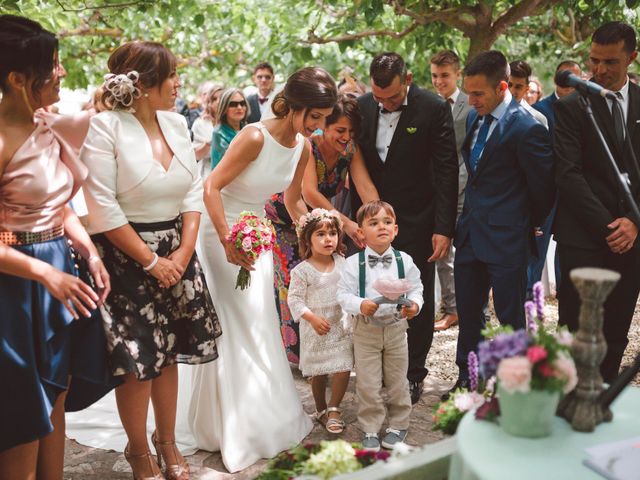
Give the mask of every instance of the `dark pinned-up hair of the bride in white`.
[(336, 82), (319, 67), (305, 67), (289, 77), (284, 90), (276, 95), (271, 110), (276, 117), (286, 117), (293, 110), (333, 108), (338, 97)]

